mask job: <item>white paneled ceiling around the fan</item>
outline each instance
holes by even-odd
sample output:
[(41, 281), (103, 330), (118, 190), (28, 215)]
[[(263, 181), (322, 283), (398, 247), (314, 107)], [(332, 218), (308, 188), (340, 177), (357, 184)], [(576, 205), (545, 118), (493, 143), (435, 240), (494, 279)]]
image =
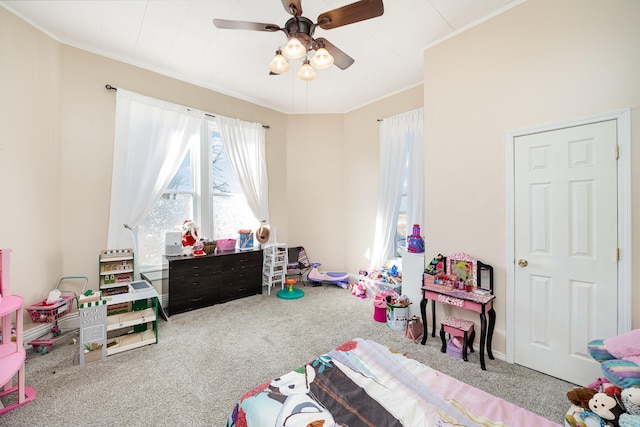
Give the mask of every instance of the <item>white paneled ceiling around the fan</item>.
[[(385, 0), (378, 18), (317, 28), (355, 59), (311, 82), (269, 76), (283, 32), (221, 30), (212, 19), (284, 26), (278, 0), (0, 0), (61, 43), (289, 113), (345, 113), (422, 83), (425, 48), (524, 0)], [(303, 16), (352, 0), (303, 0)], [(117, 85), (117, 82), (104, 82)]]

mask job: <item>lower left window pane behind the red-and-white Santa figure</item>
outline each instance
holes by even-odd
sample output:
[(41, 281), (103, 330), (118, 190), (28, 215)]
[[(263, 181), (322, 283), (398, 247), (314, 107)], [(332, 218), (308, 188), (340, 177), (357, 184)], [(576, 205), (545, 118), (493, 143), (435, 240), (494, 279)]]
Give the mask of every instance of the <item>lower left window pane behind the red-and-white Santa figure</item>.
[(138, 226), (138, 264), (141, 269), (160, 266), (164, 255), (167, 231), (180, 231), (185, 219), (193, 218), (193, 196), (190, 193), (169, 193), (151, 209)]

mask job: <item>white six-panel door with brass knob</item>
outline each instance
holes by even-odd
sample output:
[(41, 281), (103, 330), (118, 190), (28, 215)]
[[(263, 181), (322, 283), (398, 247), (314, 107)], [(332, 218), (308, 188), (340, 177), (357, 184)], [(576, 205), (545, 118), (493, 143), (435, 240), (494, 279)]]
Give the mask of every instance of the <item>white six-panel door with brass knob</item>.
[(618, 331), (616, 121), (514, 140), (515, 363), (587, 385)]

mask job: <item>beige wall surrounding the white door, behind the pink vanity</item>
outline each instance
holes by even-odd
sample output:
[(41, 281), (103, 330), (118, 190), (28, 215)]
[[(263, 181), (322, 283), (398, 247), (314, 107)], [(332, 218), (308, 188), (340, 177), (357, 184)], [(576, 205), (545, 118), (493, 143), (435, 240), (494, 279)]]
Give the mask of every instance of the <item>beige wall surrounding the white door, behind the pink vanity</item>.
[[(640, 143), (640, 2), (529, 0), (424, 53), (427, 247), (496, 269), (505, 349), (505, 132), (631, 108)], [(633, 181), (640, 165), (633, 156)], [(638, 186), (633, 189), (637, 224)], [(463, 195), (463, 197), (462, 197)], [(614, 207), (612, 207), (614, 208)], [(437, 224), (436, 226), (433, 226)], [(640, 253), (633, 231), (635, 258)], [(633, 325), (640, 326), (638, 264)]]

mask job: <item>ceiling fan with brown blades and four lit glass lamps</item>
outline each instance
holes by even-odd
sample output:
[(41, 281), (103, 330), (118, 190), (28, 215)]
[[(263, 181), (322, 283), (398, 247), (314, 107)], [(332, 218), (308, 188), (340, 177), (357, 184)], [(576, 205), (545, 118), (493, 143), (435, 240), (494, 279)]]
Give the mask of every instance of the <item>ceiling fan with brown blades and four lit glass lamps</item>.
[[(355, 60), (338, 49), (324, 37), (314, 38), (317, 27), (323, 30), (342, 27), (367, 19), (375, 18), (384, 13), (382, 0), (360, 0), (348, 4), (318, 16), (316, 23), (302, 16), (301, 0), (282, 0), (282, 5), (287, 13), (293, 15), (280, 27), (276, 24), (264, 24), (260, 22), (233, 21), (228, 19), (214, 19), (213, 25), (220, 29), (250, 30), (250, 31), (282, 31), (287, 36), (285, 47), (276, 51), (276, 56), (269, 64), (270, 74), (284, 74), (289, 71), (287, 59), (299, 59), (304, 57), (302, 67), (298, 72), (301, 80), (313, 80), (316, 69), (328, 68), (335, 65), (345, 70)], [(315, 51), (315, 55), (309, 60), (307, 52)]]

